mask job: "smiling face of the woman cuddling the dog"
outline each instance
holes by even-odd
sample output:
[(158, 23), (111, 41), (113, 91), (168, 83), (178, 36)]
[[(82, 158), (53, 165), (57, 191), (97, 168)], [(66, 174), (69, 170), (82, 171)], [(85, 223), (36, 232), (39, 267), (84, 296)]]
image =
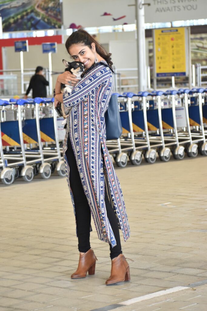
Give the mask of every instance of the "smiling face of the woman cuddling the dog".
[(90, 68), (95, 62), (95, 44), (92, 43), (92, 49), (88, 45), (82, 43), (73, 44), (70, 46), (68, 52), (74, 61), (83, 63), (85, 68)]

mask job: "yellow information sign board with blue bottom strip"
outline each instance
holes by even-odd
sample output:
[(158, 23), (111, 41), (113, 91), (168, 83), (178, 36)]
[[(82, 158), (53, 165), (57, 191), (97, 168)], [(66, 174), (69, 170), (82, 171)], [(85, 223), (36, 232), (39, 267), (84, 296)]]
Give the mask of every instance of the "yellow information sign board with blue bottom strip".
[(186, 29), (155, 29), (157, 77), (186, 76)]

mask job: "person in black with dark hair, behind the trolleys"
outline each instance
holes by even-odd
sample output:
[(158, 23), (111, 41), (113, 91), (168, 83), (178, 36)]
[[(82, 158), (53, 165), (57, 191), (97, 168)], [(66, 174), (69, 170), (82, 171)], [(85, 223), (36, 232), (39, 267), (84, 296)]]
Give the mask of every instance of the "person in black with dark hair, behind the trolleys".
[(28, 89), (25, 94), (25, 99), (32, 89), (32, 97), (47, 97), (46, 86), (49, 82), (43, 77), (43, 67), (38, 66), (35, 70), (35, 75), (31, 77)]

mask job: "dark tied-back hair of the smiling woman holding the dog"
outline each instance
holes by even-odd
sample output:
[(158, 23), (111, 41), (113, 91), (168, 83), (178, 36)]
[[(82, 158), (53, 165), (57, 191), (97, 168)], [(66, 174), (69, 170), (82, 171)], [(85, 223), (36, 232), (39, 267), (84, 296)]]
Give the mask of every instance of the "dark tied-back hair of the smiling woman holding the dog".
[(92, 49), (91, 44), (95, 43), (96, 46), (96, 52), (106, 60), (109, 67), (113, 65), (111, 61), (111, 53), (107, 54), (106, 50), (101, 46), (101, 44), (98, 43), (96, 39), (94, 39), (87, 31), (84, 29), (79, 29), (75, 32), (73, 32), (68, 39), (65, 42), (65, 47), (67, 51), (69, 50), (70, 46), (73, 44), (79, 44), (83, 43), (84, 45), (87, 45), (90, 49)]

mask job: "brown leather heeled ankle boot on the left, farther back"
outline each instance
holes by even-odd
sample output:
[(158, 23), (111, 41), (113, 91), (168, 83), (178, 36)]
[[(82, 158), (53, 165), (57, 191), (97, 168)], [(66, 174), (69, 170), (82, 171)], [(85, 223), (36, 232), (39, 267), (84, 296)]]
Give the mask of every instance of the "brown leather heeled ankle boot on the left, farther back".
[(90, 248), (88, 252), (83, 255), (80, 254), (78, 269), (71, 275), (71, 279), (80, 279), (89, 275), (95, 274), (96, 260), (98, 260)]

